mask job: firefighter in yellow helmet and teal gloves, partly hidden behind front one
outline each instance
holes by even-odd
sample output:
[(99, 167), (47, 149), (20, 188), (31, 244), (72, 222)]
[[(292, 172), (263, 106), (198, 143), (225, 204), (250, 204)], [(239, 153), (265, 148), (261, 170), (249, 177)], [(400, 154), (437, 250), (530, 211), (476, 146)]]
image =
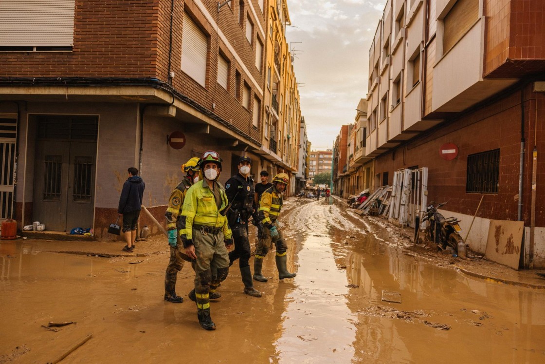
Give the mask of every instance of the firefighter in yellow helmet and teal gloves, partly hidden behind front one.
[(184, 260), (181, 258), (180, 249), (183, 249), (178, 242), (178, 231), (176, 222), (181, 217), (181, 208), (184, 205), (184, 198), (187, 189), (193, 182), (197, 182), (199, 173), (199, 158), (191, 158), (181, 165), (185, 177), (174, 188), (168, 199), (168, 207), (165, 213), (167, 222), (168, 244), (171, 247), (171, 256), (165, 271), (165, 301), (181, 303), (184, 299), (176, 294), (176, 278), (178, 272), (184, 267)]

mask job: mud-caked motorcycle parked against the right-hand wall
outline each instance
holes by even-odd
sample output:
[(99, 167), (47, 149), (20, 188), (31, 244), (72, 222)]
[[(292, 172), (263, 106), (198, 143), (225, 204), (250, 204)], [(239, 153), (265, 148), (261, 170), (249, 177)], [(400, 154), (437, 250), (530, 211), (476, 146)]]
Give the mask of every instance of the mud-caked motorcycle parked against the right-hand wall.
[[(438, 208), (445, 204), (446, 202), (443, 202), (443, 204), (434, 206), (433, 202), (431, 202), (426, 207), (426, 214), (420, 223), (429, 222), (425, 230), (425, 235), (428, 240), (433, 241), (437, 245), (438, 251), (443, 251), (451, 247), (453, 253), (463, 257), (465, 256), (465, 243), (462, 236), (460, 236), (462, 229), (458, 225), (459, 220), (456, 217), (445, 218), (443, 214), (437, 211)], [(458, 247), (460, 247), (460, 252), (458, 252)]]

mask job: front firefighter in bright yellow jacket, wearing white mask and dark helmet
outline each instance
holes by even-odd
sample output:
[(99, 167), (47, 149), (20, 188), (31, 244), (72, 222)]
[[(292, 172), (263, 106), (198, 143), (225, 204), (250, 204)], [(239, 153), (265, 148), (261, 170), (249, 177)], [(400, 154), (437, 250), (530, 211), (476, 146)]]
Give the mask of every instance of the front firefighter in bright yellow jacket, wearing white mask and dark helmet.
[(210, 317), (210, 290), (215, 290), (227, 278), (229, 255), (233, 244), (231, 229), (225, 217), (228, 201), (217, 178), (221, 159), (214, 151), (204, 152), (199, 162), (203, 181), (193, 184), (185, 195), (178, 229), (185, 253), (193, 259), (195, 289), (189, 298), (197, 303), (197, 318), (203, 329), (215, 330)]

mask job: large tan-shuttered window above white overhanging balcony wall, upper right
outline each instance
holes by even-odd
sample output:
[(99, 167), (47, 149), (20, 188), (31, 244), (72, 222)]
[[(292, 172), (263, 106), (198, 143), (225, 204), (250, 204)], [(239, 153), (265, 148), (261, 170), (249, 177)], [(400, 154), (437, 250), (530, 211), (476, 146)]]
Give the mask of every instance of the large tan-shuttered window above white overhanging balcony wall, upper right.
[(458, 0), (443, 19), (443, 54), (479, 20), (479, 0)]

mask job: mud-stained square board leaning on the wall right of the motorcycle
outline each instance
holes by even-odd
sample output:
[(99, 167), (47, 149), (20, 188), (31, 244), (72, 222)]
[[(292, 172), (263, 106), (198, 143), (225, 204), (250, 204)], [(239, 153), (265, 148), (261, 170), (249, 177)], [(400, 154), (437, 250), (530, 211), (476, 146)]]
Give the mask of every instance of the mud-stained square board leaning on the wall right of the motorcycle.
[(524, 222), (490, 220), (486, 259), (518, 270)]

